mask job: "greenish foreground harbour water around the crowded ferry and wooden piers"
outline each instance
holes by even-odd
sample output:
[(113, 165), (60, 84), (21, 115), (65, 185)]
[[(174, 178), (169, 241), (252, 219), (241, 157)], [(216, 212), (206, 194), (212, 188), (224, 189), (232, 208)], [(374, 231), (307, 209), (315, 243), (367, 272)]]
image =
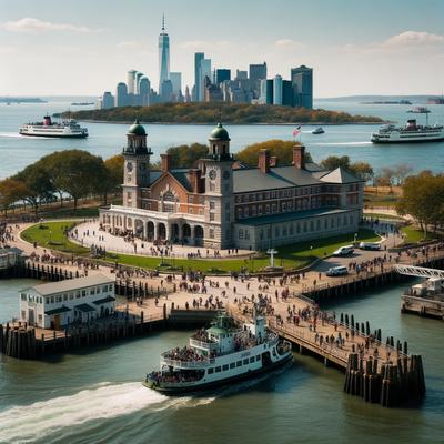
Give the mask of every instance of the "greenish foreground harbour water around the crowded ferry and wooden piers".
[[(30, 281), (0, 281), (0, 313)], [(442, 443), (441, 321), (401, 315), (403, 286), (331, 306), (369, 320), (421, 352), (427, 395), (418, 410), (387, 410), (342, 392), (343, 374), (311, 356), (270, 377), (200, 397), (167, 397), (140, 384), (159, 353), (190, 332), (162, 332), (46, 362), (0, 357), (0, 443)], [(7, 309), (9, 310), (9, 309)]]

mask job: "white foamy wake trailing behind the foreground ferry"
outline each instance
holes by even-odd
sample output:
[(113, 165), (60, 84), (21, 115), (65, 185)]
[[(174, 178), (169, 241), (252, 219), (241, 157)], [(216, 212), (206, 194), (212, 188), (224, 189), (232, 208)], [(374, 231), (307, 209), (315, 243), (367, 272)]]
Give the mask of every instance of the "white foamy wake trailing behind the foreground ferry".
[(101, 383), (74, 395), (59, 396), (0, 412), (0, 443), (29, 443), (57, 430), (99, 418), (127, 415), (147, 407), (153, 412), (211, 403), (214, 397), (173, 398), (140, 382)]

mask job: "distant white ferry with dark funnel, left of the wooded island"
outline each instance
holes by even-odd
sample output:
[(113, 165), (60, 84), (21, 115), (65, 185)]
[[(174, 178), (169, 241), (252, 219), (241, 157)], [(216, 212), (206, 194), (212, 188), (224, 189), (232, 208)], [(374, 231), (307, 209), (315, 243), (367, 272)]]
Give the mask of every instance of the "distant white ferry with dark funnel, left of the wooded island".
[(42, 138), (88, 138), (88, 129), (80, 127), (75, 120), (68, 119), (61, 123), (53, 123), (50, 115), (46, 115), (43, 122), (23, 124), (19, 133)]

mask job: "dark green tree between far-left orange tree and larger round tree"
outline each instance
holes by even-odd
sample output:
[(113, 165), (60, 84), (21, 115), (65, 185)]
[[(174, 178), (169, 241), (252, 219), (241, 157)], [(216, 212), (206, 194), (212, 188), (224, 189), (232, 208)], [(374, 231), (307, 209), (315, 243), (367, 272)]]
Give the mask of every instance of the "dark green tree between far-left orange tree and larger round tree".
[(42, 202), (50, 201), (56, 191), (47, 171), (39, 162), (28, 165), (12, 179), (24, 184), (21, 190), (23, 194), (20, 199), (27, 201), (33, 208), (36, 215), (39, 211), (39, 205)]

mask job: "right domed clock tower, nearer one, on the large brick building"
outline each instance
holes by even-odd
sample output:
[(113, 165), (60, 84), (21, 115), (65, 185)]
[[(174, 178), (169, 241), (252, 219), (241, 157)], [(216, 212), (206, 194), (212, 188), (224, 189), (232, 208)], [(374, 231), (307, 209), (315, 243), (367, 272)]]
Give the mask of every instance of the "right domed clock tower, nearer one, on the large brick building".
[(232, 246), (234, 222), (233, 158), (230, 135), (222, 123), (209, 138), (209, 152), (202, 160), (205, 171), (205, 245), (220, 249)]

